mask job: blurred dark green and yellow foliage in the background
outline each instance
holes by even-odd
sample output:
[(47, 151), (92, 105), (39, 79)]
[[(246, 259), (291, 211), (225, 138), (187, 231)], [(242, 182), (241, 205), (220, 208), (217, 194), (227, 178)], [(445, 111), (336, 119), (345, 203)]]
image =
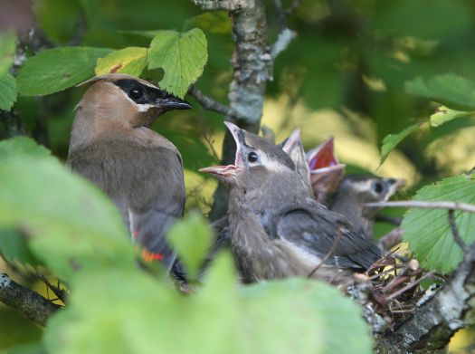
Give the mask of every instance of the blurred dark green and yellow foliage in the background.
[[(272, 42), (279, 33), (278, 15), (273, 2), (267, 3)], [(283, 3), (290, 5), (290, 0)], [(208, 62), (197, 87), (215, 100), (227, 101), (233, 40), (224, 12), (203, 14), (188, 0), (173, 5), (166, 0), (0, 0), (0, 8), (0, 30), (14, 29), (25, 36), (38, 26), (46, 47), (147, 46), (149, 38), (135, 31), (199, 27), (208, 42)], [(472, 1), (306, 0), (290, 17), (289, 26), (299, 36), (274, 64), (262, 118), (278, 141), (296, 127), (305, 148), (335, 136), (337, 155), (347, 163), (347, 172), (404, 177), (408, 195), (475, 165), (475, 126), (470, 118), (462, 118), (438, 129), (418, 130), (376, 171), (382, 139), (434, 110), (432, 102), (405, 91), (406, 81), (446, 72), (475, 80)], [(41, 99), (19, 97), (14, 106), (34, 139), (58, 158), (66, 157), (73, 108), (83, 91), (73, 88)], [(196, 170), (219, 159), (223, 116), (188, 100), (195, 110), (168, 113), (154, 129), (182, 153), (188, 210), (200, 208), (206, 213), (215, 181)], [(6, 137), (0, 124), (0, 139)], [(385, 231), (379, 226), (376, 233)], [(0, 263), (1, 269), (5, 265)], [(5, 326), (6, 322), (12, 325)], [(0, 348), (14, 341), (24, 326), (27, 322), (0, 307)], [(28, 336), (34, 340), (39, 330), (29, 327)]]

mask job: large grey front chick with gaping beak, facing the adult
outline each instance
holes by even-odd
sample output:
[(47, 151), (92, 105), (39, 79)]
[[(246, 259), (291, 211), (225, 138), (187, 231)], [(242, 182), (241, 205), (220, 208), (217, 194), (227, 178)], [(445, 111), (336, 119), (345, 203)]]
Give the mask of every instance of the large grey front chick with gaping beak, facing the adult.
[(236, 141), (234, 165), (202, 168), (228, 183), (230, 240), (244, 282), (313, 276), (341, 284), (380, 256), (302, 184), (285, 151), (226, 122)]

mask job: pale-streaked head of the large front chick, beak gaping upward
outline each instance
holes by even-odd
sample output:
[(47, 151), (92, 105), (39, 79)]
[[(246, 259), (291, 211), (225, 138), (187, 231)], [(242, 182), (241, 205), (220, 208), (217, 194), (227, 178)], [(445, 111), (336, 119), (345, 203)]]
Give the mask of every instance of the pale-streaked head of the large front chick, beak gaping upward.
[(234, 164), (204, 167), (201, 172), (213, 174), (232, 188), (243, 191), (246, 199), (259, 199), (262, 204), (275, 203), (285, 196), (305, 191), (294, 162), (282, 148), (233, 123), (224, 123), (236, 142)]

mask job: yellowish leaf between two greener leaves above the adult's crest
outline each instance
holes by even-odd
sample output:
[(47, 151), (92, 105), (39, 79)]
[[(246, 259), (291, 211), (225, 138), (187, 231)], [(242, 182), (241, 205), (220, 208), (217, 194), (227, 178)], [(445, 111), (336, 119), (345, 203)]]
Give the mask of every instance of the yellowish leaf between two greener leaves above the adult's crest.
[(96, 75), (120, 72), (139, 76), (146, 66), (147, 48), (127, 47), (98, 59)]

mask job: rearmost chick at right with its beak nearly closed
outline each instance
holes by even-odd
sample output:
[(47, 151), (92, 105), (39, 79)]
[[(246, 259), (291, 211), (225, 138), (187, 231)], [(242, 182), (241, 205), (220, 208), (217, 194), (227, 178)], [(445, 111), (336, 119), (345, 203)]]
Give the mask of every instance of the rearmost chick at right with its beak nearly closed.
[(347, 216), (356, 230), (363, 231), (372, 240), (375, 216), (381, 208), (365, 206), (365, 204), (385, 202), (404, 186), (403, 178), (347, 176), (337, 188), (330, 209)]

